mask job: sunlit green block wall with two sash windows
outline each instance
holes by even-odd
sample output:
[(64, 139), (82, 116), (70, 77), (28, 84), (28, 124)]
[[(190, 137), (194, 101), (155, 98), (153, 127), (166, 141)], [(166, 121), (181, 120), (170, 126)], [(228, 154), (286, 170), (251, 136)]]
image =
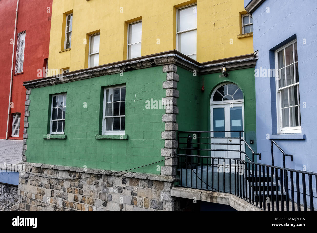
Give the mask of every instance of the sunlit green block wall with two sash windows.
[[(165, 130), (165, 109), (146, 109), (146, 100), (162, 100), (166, 73), (153, 67), (32, 89), (26, 157), (28, 162), (105, 170), (127, 170), (159, 160)], [(95, 139), (100, 130), (103, 88), (126, 84), (125, 134), (127, 140)], [(50, 95), (67, 92), (65, 134), (67, 139), (43, 139), (48, 133)], [(87, 108), (84, 108), (87, 102)], [(135, 169), (156, 173), (164, 161)]]

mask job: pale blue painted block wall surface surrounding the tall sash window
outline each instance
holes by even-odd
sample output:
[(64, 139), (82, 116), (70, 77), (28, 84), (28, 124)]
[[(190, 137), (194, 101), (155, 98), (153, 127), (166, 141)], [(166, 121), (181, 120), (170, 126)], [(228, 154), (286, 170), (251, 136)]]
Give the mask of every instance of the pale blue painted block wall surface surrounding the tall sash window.
[[(270, 12), (267, 12), (269, 7)], [(306, 140), (275, 140), (293, 162), (286, 167), (317, 172), (317, 2), (311, 0), (266, 0), (253, 12), (254, 50), (259, 51), (256, 69), (274, 68), (274, 50), (297, 39), (302, 134)], [(277, 133), (275, 79), (257, 77), (256, 129), (258, 151), (263, 162), (271, 164), (267, 135)], [(306, 107), (304, 107), (306, 103)], [(282, 155), (275, 148), (275, 165), (282, 166)], [(301, 182), (301, 181), (300, 181)]]

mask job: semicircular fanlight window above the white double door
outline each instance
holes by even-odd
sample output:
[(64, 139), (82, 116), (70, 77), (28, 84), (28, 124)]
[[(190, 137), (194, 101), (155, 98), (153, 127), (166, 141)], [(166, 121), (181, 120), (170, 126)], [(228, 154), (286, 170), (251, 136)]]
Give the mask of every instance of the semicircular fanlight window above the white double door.
[(212, 102), (225, 100), (243, 100), (241, 89), (232, 83), (219, 87), (213, 94)]

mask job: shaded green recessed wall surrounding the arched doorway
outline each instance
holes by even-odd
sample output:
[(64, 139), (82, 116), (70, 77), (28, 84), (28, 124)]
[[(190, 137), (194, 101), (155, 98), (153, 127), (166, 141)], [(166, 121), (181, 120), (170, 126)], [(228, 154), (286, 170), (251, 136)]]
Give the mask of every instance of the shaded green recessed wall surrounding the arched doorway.
[[(193, 76), (192, 72), (178, 67), (177, 74), (179, 74), (179, 82), (177, 89), (179, 90), (179, 100), (177, 105), (179, 108), (179, 115), (177, 117), (177, 122), (179, 130), (209, 131), (211, 94), (214, 88), (221, 83), (232, 82), (238, 85), (243, 91), (245, 139), (248, 143), (250, 139), (254, 140), (254, 144), (249, 145), (256, 152), (254, 68), (230, 70), (228, 73), (230, 73), (230, 75), (227, 78), (219, 77), (219, 75), (221, 75), (220, 72)], [(203, 77), (204, 92), (200, 90), (203, 86)], [(201, 140), (201, 142), (204, 141)], [(210, 147), (203, 145), (201, 148)], [(246, 151), (248, 152), (249, 149), (246, 149)], [(200, 155), (208, 155), (208, 153), (201, 152)], [(248, 156), (251, 159), (251, 154), (249, 152)]]

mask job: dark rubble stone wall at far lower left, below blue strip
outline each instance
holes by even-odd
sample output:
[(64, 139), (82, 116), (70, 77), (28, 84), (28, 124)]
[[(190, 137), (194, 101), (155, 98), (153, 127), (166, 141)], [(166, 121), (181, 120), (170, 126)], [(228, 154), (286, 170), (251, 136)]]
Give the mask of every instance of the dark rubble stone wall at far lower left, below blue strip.
[(19, 198), (17, 196), (18, 186), (0, 183), (0, 211), (17, 211), (19, 209)]

